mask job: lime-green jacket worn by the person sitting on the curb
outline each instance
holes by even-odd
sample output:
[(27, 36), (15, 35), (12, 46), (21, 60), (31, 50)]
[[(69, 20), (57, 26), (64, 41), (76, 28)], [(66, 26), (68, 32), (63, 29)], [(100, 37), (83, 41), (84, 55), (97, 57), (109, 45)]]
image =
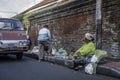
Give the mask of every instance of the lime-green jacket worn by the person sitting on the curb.
[(80, 56), (95, 53), (95, 45), (93, 42), (85, 43), (80, 49), (78, 49)]

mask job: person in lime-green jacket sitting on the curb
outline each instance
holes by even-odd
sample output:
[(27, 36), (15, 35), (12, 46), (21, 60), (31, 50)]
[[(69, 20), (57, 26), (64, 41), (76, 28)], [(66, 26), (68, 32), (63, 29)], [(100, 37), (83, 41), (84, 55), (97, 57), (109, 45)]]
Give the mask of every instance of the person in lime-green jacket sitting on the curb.
[(87, 64), (89, 62), (89, 59), (91, 59), (92, 55), (94, 55), (95, 45), (92, 42), (93, 40), (94, 37), (92, 34), (85, 34), (85, 44), (74, 53), (74, 69), (79, 69), (79, 65), (84, 66), (85, 64)]

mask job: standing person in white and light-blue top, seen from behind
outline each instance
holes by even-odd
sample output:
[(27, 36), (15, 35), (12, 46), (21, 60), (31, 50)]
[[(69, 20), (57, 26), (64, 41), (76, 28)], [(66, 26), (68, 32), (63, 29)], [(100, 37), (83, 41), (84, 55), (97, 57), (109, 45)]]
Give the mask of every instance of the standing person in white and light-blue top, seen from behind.
[(38, 34), (38, 44), (39, 44), (39, 61), (44, 59), (45, 54), (50, 54), (51, 52), (51, 34), (48, 29), (48, 25), (44, 25), (42, 29), (39, 30)]

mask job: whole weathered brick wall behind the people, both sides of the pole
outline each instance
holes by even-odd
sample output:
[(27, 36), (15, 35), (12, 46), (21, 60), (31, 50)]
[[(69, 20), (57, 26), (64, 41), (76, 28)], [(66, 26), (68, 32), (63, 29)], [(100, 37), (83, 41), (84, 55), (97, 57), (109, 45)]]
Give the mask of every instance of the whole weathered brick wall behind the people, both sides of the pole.
[[(48, 24), (55, 47), (63, 47), (68, 52), (77, 50), (83, 44), (82, 39), (86, 32), (95, 34), (95, 3), (95, 0), (76, 0), (31, 16), (30, 34), (32, 38), (36, 35), (33, 41), (36, 41), (38, 30)], [(120, 49), (119, 3), (120, 0), (103, 1), (103, 49), (116, 54)]]

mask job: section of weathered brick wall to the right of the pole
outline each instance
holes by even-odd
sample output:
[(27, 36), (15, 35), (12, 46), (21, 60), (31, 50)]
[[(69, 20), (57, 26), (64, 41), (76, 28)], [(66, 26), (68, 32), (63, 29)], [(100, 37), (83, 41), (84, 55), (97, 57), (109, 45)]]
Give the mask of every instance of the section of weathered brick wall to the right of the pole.
[(120, 0), (105, 1), (103, 4), (103, 49), (109, 54), (120, 53)]

